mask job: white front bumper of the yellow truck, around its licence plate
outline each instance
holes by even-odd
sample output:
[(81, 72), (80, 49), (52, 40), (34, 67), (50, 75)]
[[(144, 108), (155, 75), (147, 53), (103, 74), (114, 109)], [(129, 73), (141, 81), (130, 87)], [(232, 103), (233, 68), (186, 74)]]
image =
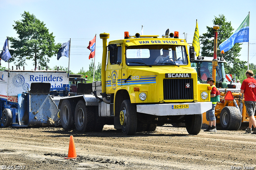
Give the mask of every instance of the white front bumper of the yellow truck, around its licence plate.
[[(188, 105), (188, 108), (172, 109), (173, 105)], [(212, 102), (137, 105), (137, 112), (156, 116), (198, 115), (210, 109), (212, 109)]]

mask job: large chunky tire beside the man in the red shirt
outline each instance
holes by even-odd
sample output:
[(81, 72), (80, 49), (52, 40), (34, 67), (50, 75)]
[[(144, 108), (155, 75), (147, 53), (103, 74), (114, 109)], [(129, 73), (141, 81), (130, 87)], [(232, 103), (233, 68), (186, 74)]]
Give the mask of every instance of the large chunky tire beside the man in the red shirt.
[(240, 110), (233, 106), (226, 106), (220, 113), (220, 126), (224, 130), (238, 130), (242, 123)]

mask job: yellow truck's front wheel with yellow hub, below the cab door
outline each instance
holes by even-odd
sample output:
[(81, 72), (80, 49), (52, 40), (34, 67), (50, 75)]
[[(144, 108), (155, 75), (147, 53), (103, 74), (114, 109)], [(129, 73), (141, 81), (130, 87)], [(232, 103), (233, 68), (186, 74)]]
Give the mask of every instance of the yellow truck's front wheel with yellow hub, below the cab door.
[(120, 124), (125, 135), (133, 135), (137, 129), (136, 105), (124, 100), (120, 109)]

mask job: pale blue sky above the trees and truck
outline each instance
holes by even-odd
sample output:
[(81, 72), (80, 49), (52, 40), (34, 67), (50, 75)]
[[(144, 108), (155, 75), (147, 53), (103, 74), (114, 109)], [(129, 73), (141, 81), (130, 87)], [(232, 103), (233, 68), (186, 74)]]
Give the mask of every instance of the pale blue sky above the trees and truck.
[[(250, 12), (249, 63), (256, 64), (256, 1), (255, 0), (0, 0), (0, 49), (6, 37), (17, 37), (13, 29), (14, 21), (21, 20), (21, 14), (30, 12), (43, 21), (49, 32), (53, 32), (56, 43), (64, 43), (71, 38), (70, 70), (78, 73), (82, 67), (89, 69), (90, 50), (86, 47), (96, 36), (96, 65), (102, 59), (101, 33), (109, 33), (111, 40), (140, 33), (143, 25), (144, 35), (159, 35), (178, 31), (179, 37), (187, 36), (192, 43), (196, 19), (199, 34), (206, 33), (206, 26), (213, 26), (214, 16), (223, 14), (231, 22), (234, 31)], [(219, 45), (219, 43), (218, 43)], [(239, 57), (248, 58), (248, 43), (241, 45)], [(8, 63), (1, 61), (2, 67)], [(25, 69), (33, 69), (33, 62), (27, 61)], [(49, 67), (68, 67), (68, 58), (56, 56), (50, 59)], [(10, 67), (14, 63), (10, 63)], [(16, 67), (14, 67), (16, 68)]]

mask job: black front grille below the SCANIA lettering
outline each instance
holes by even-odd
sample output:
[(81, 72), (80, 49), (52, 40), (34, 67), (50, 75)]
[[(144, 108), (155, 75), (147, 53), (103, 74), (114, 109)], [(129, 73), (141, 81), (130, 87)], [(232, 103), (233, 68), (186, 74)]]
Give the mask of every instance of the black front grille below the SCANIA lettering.
[[(164, 100), (193, 99), (193, 79), (164, 79)], [(186, 84), (190, 83), (190, 88)]]

